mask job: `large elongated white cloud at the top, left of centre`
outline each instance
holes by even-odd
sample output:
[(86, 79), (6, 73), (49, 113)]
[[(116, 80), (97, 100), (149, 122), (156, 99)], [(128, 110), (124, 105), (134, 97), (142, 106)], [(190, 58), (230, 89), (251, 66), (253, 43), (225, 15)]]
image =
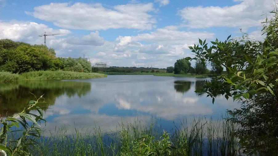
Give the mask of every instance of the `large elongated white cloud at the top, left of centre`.
[(50, 3), (26, 12), (35, 18), (53, 22), (66, 29), (107, 30), (110, 28), (152, 29), (156, 20), (148, 12), (155, 11), (152, 3), (117, 5), (113, 10), (101, 4)]

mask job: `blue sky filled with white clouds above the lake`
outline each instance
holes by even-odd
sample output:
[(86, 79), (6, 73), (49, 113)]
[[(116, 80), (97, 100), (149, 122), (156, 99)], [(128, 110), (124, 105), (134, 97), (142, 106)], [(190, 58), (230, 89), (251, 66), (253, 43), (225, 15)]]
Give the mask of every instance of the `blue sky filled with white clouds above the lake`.
[[(0, 0), (0, 38), (54, 48), (110, 66), (166, 68), (188, 46), (247, 33), (262, 40), (273, 0)], [(242, 32), (241, 32), (241, 31)], [(191, 62), (194, 66), (195, 62)]]

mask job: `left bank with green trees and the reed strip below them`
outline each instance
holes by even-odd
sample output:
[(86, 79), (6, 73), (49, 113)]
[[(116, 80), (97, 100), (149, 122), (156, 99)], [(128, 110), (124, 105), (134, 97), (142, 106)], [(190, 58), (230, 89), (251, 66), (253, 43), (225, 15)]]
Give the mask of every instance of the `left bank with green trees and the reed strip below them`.
[(103, 78), (85, 59), (57, 58), (52, 48), (0, 39), (0, 82)]

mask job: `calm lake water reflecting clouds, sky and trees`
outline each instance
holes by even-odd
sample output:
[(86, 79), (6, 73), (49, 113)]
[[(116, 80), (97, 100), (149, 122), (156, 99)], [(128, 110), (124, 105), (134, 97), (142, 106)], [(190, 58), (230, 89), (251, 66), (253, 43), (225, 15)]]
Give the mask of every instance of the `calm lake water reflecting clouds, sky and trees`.
[(18, 113), (44, 94), (46, 130), (66, 126), (87, 131), (100, 126), (116, 131), (120, 122), (139, 118), (146, 124), (158, 121), (166, 130), (174, 122), (192, 116), (221, 118), (227, 109), (238, 108), (224, 96), (199, 96), (194, 91), (206, 78), (159, 77), (153, 75), (108, 75), (107, 78), (62, 81), (26, 81), (0, 84), (0, 116)]

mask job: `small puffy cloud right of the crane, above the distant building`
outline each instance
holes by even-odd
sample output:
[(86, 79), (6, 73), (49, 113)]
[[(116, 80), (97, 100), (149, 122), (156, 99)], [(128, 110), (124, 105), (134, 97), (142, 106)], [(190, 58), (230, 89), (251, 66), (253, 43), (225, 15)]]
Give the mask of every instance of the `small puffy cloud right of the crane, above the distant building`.
[(89, 35), (85, 35), (82, 38), (69, 37), (67, 42), (76, 45), (90, 45), (90, 46), (101, 46), (104, 43), (103, 37), (99, 36), (99, 32), (91, 32)]

